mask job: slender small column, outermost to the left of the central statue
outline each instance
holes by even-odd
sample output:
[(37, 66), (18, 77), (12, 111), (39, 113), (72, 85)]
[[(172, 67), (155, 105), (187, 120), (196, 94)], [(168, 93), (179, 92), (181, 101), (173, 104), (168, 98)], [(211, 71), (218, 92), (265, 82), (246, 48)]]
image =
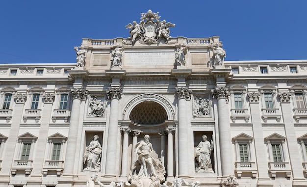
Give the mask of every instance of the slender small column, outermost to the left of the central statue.
[(123, 127), (123, 128), (121, 128), (121, 132), (124, 134), (124, 138), (123, 138), (123, 154), (122, 154), (122, 173), (121, 173), (121, 176), (127, 177), (129, 133), (131, 132), (131, 129), (128, 128), (128, 127)]

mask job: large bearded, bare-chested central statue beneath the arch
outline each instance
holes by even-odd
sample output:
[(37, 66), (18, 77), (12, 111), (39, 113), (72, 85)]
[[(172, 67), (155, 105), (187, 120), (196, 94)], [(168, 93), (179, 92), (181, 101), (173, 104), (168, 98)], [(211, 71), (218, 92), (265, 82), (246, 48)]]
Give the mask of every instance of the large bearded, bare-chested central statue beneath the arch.
[(138, 160), (134, 162), (132, 175), (129, 177), (132, 186), (160, 187), (165, 181), (165, 168), (158, 158), (153, 157), (153, 146), (149, 142), (150, 136), (146, 134), (144, 140), (136, 144), (135, 154)]

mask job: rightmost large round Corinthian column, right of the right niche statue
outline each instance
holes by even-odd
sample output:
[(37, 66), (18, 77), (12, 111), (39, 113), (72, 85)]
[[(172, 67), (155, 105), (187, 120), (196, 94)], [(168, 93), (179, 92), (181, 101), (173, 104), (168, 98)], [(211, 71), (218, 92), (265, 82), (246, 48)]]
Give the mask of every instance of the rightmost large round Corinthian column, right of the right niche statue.
[(218, 129), (221, 152), (222, 176), (226, 177), (233, 173), (231, 161), (231, 136), (229, 123), (229, 109), (226, 99), (229, 97), (228, 88), (217, 87), (211, 90), (213, 98), (217, 99)]

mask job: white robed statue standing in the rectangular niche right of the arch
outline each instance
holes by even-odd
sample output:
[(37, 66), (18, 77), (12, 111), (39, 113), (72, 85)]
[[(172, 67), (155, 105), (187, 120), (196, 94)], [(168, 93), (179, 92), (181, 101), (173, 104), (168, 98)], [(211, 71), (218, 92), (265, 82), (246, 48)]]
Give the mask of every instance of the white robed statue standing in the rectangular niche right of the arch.
[(201, 141), (195, 149), (196, 160), (196, 173), (213, 173), (211, 163), (211, 151), (213, 150), (213, 141), (211, 143), (207, 140), (207, 136), (202, 136), (204, 141)]

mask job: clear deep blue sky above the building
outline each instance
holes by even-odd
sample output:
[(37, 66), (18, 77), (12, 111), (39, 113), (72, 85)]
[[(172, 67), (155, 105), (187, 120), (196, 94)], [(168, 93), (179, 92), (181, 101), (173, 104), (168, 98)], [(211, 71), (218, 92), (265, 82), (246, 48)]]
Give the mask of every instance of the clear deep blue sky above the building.
[(148, 9), (172, 37), (220, 36), (225, 60), (307, 59), (307, 0), (0, 0), (0, 63), (74, 63), (82, 38), (127, 38)]

